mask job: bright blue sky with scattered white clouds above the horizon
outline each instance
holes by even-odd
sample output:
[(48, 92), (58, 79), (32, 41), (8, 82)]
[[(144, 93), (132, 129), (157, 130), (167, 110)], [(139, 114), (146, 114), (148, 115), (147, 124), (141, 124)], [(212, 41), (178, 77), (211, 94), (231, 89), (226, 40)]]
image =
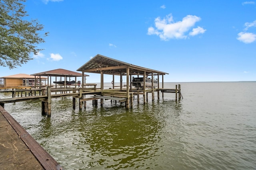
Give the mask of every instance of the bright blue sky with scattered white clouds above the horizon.
[[(164, 82), (255, 81), (256, 1), (28, 0), (49, 32), (34, 60), (0, 76), (64, 68), (104, 55), (169, 73)], [(89, 74), (86, 82), (100, 82)], [(111, 76), (112, 78), (112, 76)], [(105, 82), (111, 79), (104, 77)]]

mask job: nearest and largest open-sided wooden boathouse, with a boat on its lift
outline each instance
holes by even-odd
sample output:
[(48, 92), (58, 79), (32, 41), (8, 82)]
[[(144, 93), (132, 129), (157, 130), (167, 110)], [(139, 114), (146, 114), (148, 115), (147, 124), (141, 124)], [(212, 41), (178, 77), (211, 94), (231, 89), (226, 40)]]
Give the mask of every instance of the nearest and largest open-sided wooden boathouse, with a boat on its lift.
[[(99, 54), (93, 57), (92, 59), (90, 59), (90, 61), (82, 65), (80, 68), (78, 68), (77, 71), (81, 71), (82, 75), (84, 75), (85, 72), (100, 74), (101, 95), (98, 96), (98, 98), (101, 99), (101, 104), (103, 102), (103, 99), (117, 100), (118, 98), (122, 98), (122, 99), (125, 99), (123, 101), (126, 102), (126, 108), (132, 107), (133, 95), (139, 96), (140, 94), (142, 94), (144, 98), (144, 104), (146, 103), (146, 99), (147, 99), (146, 97), (148, 97), (148, 92), (152, 93), (152, 100), (154, 100), (154, 92), (157, 91), (158, 98), (159, 98), (159, 91), (160, 91), (159, 78), (160, 76), (162, 76), (162, 89), (163, 89), (164, 75), (168, 74), (166, 72), (152, 70), (149, 68), (144, 68), (141, 66), (136, 66), (133, 64), (111, 59), (109, 57), (99, 55)], [(108, 90), (104, 89), (104, 74), (110, 74), (113, 76), (111, 89), (108, 89)], [(115, 76), (120, 77), (120, 80), (117, 81), (118, 84), (120, 83), (119, 86), (115, 86)], [(122, 84), (123, 76), (126, 76), (126, 86), (123, 86)], [(142, 88), (132, 87), (132, 76), (143, 77), (144, 87)], [(157, 76), (157, 80), (158, 80), (157, 87), (153, 86), (154, 76)], [(151, 78), (152, 80), (151, 87), (146, 86), (146, 83), (145, 83), (146, 77)], [(84, 79), (82, 79), (82, 81), (83, 80)], [(82, 82), (82, 84), (84, 84), (84, 82)]]

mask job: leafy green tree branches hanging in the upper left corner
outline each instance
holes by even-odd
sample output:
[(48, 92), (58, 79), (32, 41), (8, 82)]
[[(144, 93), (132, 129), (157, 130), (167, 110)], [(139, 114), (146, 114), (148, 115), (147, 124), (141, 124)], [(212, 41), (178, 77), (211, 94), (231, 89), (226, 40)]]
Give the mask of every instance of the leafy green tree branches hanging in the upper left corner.
[(42, 50), (36, 45), (48, 33), (42, 33), (44, 26), (38, 20), (26, 20), (25, 1), (0, 0), (0, 66), (16, 68)]

